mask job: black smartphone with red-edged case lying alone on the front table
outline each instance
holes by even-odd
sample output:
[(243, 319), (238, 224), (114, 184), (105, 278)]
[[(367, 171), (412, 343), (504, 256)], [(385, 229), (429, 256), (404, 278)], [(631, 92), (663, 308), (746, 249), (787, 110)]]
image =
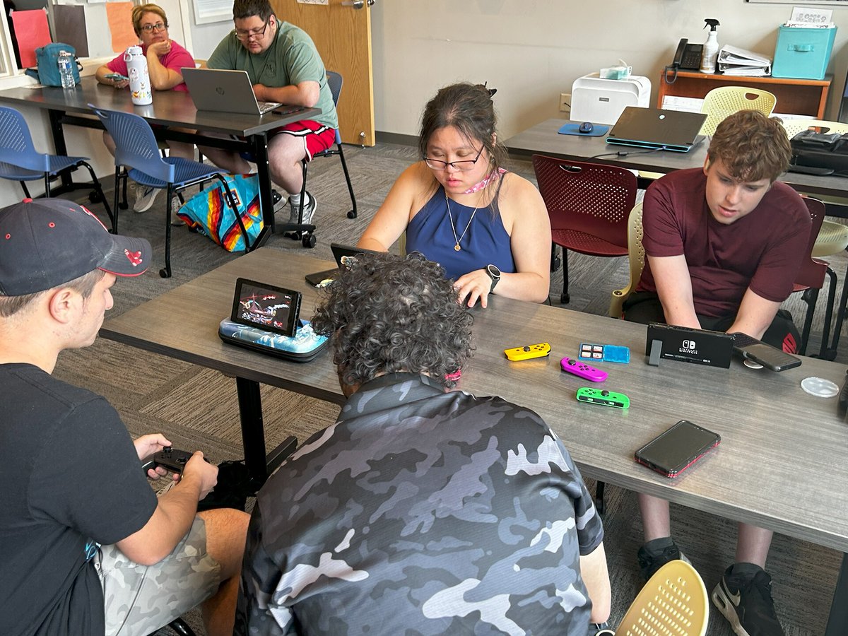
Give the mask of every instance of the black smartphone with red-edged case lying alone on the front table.
[(717, 432), (681, 420), (637, 450), (634, 457), (661, 475), (677, 477), (721, 441)]

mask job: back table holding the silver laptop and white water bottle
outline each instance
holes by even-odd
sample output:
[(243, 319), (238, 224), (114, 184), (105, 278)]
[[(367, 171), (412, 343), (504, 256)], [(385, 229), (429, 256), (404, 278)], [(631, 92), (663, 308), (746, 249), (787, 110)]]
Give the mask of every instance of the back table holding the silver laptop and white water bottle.
[[(163, 126), (155, 129), (162, 139), (251, 153), (259, 176), (259, 208), (265, 220), (265, 228), (257, 240), (257, 245), (264, 243), (268, 232), (273, 232), (274, 228), (274, 204), (271, 198), (271, 176), (268, 170), (268, 131), (321, 113), (321, 109), (306, 109), (287, 115), (213, 113), (195, 109), (191, 96), (184, 91), (154, 91), (153, 103), (148, 106), (135, 106), (128, 90), (115, 90), (111, 86), (103, 86), (93, 75), (82, 78), (80, 84), (73, 90), (54, 86), (9, 88), (0, 91), (0, 102), (13, 105), (26, 104), (47, 110), (53, 145), (57, 154), (68, 153), (64, 142), (64, 125), (103, 129), (100, 121), (88, 108), (89, 103), (103, 109), (141, 115), (151, 124)], [(198, 133), (176, 131), (172, 130), (173, 127), (196, 130)], [(215, 132), (243, 137), (243, 139), (203, 137), (199, 134), (201, 132)], [(62, 178), (63, 185), (70, 187), (70, 175), (63, 174)]]

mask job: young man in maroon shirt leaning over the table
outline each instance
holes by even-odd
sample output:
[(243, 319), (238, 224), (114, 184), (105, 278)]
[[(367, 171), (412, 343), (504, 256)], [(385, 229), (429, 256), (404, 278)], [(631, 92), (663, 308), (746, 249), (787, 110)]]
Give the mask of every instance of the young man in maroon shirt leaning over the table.
[[(798, 330), (780, 304), (806, 258), (810, 214), (801, 197), (776, 181), (789, 165), (783, 126), (753, 110), (718, 126), (703, 169), (678, 170), (644, 197), (647, 256), (625, 320), (743, 332), (795, 352)], [(644, 577), (681, 558), (671, 537), (668, 502), (639, 494)], [(739, 636), (783, 636), (764, 571), (772, 532), (739, 524), (735, 563), (712, 592)]]

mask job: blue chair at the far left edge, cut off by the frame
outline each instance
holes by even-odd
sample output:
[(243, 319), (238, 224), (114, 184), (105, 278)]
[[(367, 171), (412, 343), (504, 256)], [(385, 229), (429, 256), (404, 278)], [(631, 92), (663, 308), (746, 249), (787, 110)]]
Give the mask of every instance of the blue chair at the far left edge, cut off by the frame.
[[(8, 106), (0, 106), (0, 178), (19, 181), (26, 198), (31, 198), (26, 181), (43, 179), (44, 196), (49, 197), (50, 180), (53, 177), (64, 170), (76, 170), (84, 165), (92, 176), (92, 187), (96, 192), (92, 192), (94, 196), (89, 198), (92, 203), (97, 199), (103, 201), (106, 214), (114, 224), (112, 210), (103, 195), (100, 181), (92, 166), (86, 163), (86, 159), (88, 158), (39, 153), (32, 142), (30, 128), (26, 125), (24, 116)], [(85, 187), (89, 187), (88, 184)]]

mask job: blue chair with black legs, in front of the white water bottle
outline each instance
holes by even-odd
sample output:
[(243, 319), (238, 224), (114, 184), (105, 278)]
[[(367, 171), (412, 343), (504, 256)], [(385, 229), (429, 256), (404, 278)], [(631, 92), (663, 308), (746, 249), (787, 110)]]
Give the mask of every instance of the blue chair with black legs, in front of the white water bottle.
[[(103, 126), (109, 131), (114, 140), (114, 217), (112, 220), (112, 231), (118, 232), (118, 198), (120, 196), (120, 181), (129, 176), (137, 184), (147, 187), (167, 189), (168, 196), (165, 198), (167, 207), (165, 210), (165, 267), (159, 270), (159, 276), (170, 278), (170, 204), (174, 194), (182, 192), (187, 187), (192, 187), (218, 179), (224, 186), (227, 204), (233, 209), (238, 221), (239, 229), (244, 237), (244, 244), (250, 247), (248, 232), (244, 229), (242, 217), (233, 206), (232, 192), (227, 186), (222, 174), (226, 170), (220, 170), (211, 165), (181, 159), (180, 157), (159, 156), (159, 148), (156, 145), (156, 137), (153, 130), (142, 117), (137, 114), (123, 113), (117, 110), (98, 109), (93, 104), (88, 107), (97, 114)], [(129, 171), (121, 170), (126, 166)]]

